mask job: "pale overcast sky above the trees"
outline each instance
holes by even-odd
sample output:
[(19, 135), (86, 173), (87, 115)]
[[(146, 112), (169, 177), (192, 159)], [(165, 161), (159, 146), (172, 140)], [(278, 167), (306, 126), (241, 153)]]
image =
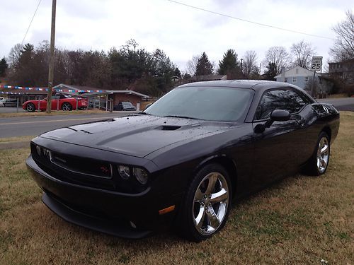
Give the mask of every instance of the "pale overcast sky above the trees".
[[(0, 58), (21, 43), (38, 0), (1, 1)], [(162, 49), (181, 71), (193, 55), (206, 52), (217, 63), (227, 49), (239, 58), (247, 50), (258, 54), (258, 63), (272, 46), (304, 40), (316, 47), (317, 55), (329, 59), (335, 34), (333, 25), (354, 11), (353, 0), (177, 0), (180, 3), (234, 18), (273, 25), (314, 37), (268, 28), (227, 16), (198, 10), (169, 0), (57, 0), (56, 43), (66, 49), (108, 51), (135, 39), (152, 52)], [(27, 42), (38, 45), (50, 39), (52, 0), (42, 0)], [(324, 38), (327, 37), (327, 38)], [(330, 38), (330, 39), (328, 39)]]

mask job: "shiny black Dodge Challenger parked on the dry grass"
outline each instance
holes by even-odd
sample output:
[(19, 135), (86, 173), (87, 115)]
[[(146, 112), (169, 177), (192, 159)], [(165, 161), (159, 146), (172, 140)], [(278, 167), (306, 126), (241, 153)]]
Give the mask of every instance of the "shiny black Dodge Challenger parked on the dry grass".
[(30, 143), (43, 202), (65, 220), (139, 238), (168, 225), (200, 241), (232, 201), (329, 165), (339, 113), (272, 81), (189, 83), (127, 117), (68, 126)]

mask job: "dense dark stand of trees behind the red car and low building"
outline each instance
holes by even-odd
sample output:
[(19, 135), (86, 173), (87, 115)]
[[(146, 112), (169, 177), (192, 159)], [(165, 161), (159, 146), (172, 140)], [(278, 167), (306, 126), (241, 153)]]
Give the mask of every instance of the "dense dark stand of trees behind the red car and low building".
[[(50, 45), (15, 45), (8, 56), (8, 82), (47, 86)], [(161, 50), (148, 52), (135, 40), (108, 52), (55, 49), (54, 83), (102, 89), (136, 90), (158, 96), (171, 90), (181, 72)]]

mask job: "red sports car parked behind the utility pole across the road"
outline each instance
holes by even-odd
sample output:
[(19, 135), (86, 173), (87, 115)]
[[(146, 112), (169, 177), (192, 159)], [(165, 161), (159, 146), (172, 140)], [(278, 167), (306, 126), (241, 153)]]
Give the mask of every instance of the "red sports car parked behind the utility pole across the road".
[[(52, 96), (52, 110), (76, 110), (76, 105), (79, 110), (87, 107), (87, 100), (72, 98), (69, 95), (53, 95)], [(39, 107), (38, 107), (39, 106)], [(23, 110), (34, 112), (35, 110), (47, 110), (47, 98), (43, 100), (28, 100), (22, 105)]]

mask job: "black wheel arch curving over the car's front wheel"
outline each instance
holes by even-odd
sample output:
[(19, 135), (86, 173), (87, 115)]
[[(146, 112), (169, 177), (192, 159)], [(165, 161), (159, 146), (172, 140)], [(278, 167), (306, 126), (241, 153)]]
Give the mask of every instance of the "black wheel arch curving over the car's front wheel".
[(232, 158), (229, 158), (227, 155), (213, 155), (209, 158), (205, 158), (205, 160), (202, 160), (198, 167), (195, 168), (193, 175), (195, 175), (202, 167), (205, 167), (205, 165), (212, 163), (222, 165), (222, 167), (227, 170), (227, 173), (229, 173), (230, 181), (232, 183), (232, 197), (234, 198), (236, 195), (237, 187), (237, 167), (236, 162)]

